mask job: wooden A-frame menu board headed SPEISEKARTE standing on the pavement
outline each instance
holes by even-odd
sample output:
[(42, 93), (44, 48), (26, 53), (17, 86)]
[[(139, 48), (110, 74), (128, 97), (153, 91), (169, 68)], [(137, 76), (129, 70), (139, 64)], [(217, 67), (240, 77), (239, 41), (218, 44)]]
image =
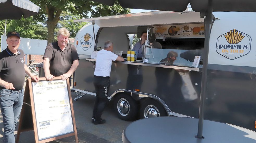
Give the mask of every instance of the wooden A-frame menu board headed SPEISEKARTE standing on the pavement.
[[(78, 143), (69, 80), (61, 77), (53, 81), (39, 79), (39, 82), (27, 81), (16, 142), (22, 131), (34, 129), (36, 143), (72, 135)], [(27, 112), (28, 106), (31, 112)], [(29, 120), (33, 124), (28, 123)]]

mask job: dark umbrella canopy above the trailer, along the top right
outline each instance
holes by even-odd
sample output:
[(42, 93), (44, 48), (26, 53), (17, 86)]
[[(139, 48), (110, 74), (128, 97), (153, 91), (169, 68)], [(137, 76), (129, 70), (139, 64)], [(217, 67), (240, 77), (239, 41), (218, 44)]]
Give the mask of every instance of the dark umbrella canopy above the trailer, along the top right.
[[(113, 5), (115, 0), (93, 0), (106, 5)], [(202, 12), (207, 9), (208, 1), (206, 0), (118, 0), (124, 8), (133, 9), (150, 9), (166, 11), (185, 11), (190, 3), (193, 11)], [(240, 11), (256, 12), (255, 0), (213, 0), (213, 11)]]

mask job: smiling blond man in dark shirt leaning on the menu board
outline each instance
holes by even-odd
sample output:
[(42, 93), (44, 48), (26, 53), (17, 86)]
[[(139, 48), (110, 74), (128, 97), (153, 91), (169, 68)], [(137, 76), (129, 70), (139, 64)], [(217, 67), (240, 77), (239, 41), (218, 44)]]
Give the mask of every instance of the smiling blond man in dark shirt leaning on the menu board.
[(49, 81), (52, 81), (55, 76), (61, 76), (62, 80), (69, 77), (69, 82), (71, 82), (71, 75), (79, 65), (76, 47), (68, 44), (69, 36), (69, 31), (61, 28), (57, 36), (58, 41), (46, 46), (43, 69), (45, 78)]

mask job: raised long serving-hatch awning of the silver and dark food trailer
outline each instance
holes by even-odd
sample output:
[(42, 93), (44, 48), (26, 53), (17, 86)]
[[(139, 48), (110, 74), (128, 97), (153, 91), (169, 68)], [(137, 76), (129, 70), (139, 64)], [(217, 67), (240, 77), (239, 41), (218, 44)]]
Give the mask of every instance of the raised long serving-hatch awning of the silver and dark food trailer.
[(92, 22), (99, 27), (139, 26), (139, 25), (163, 25), (178, 23), (203, 23), (199, 12), (171, 12), (152, 11), (132, 13), (125, 15), (105, 16), (74, 20), (74, 22)]

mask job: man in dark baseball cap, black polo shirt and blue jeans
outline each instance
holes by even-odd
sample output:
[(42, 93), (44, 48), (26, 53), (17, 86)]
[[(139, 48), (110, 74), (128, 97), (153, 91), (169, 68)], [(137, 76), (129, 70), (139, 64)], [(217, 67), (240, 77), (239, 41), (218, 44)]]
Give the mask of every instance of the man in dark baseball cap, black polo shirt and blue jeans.
[(20, 34), (9, 32), (6, 41), (8, 46), (0, 53), (0, 107), (4, 143), (14, 143), (14, 130), (23, 104), (25, 73), (36, 82), (39, 78), (24, 64), (24, 52), (18, 49)]

